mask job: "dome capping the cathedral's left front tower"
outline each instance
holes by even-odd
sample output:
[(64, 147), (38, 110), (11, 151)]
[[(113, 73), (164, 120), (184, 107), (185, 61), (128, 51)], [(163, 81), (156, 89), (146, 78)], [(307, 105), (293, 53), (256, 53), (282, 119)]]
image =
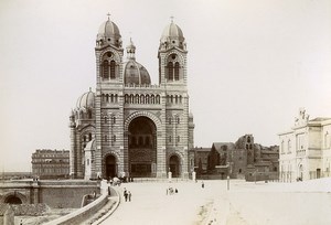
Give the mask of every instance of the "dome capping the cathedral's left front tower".
[(100, 25), (97, 34), (97, 44), (102, 46), (106, 43), (121, 47), (121, 35), (119, 33), (119, 29), (113, 21), (109, 20), (109, 18)]

